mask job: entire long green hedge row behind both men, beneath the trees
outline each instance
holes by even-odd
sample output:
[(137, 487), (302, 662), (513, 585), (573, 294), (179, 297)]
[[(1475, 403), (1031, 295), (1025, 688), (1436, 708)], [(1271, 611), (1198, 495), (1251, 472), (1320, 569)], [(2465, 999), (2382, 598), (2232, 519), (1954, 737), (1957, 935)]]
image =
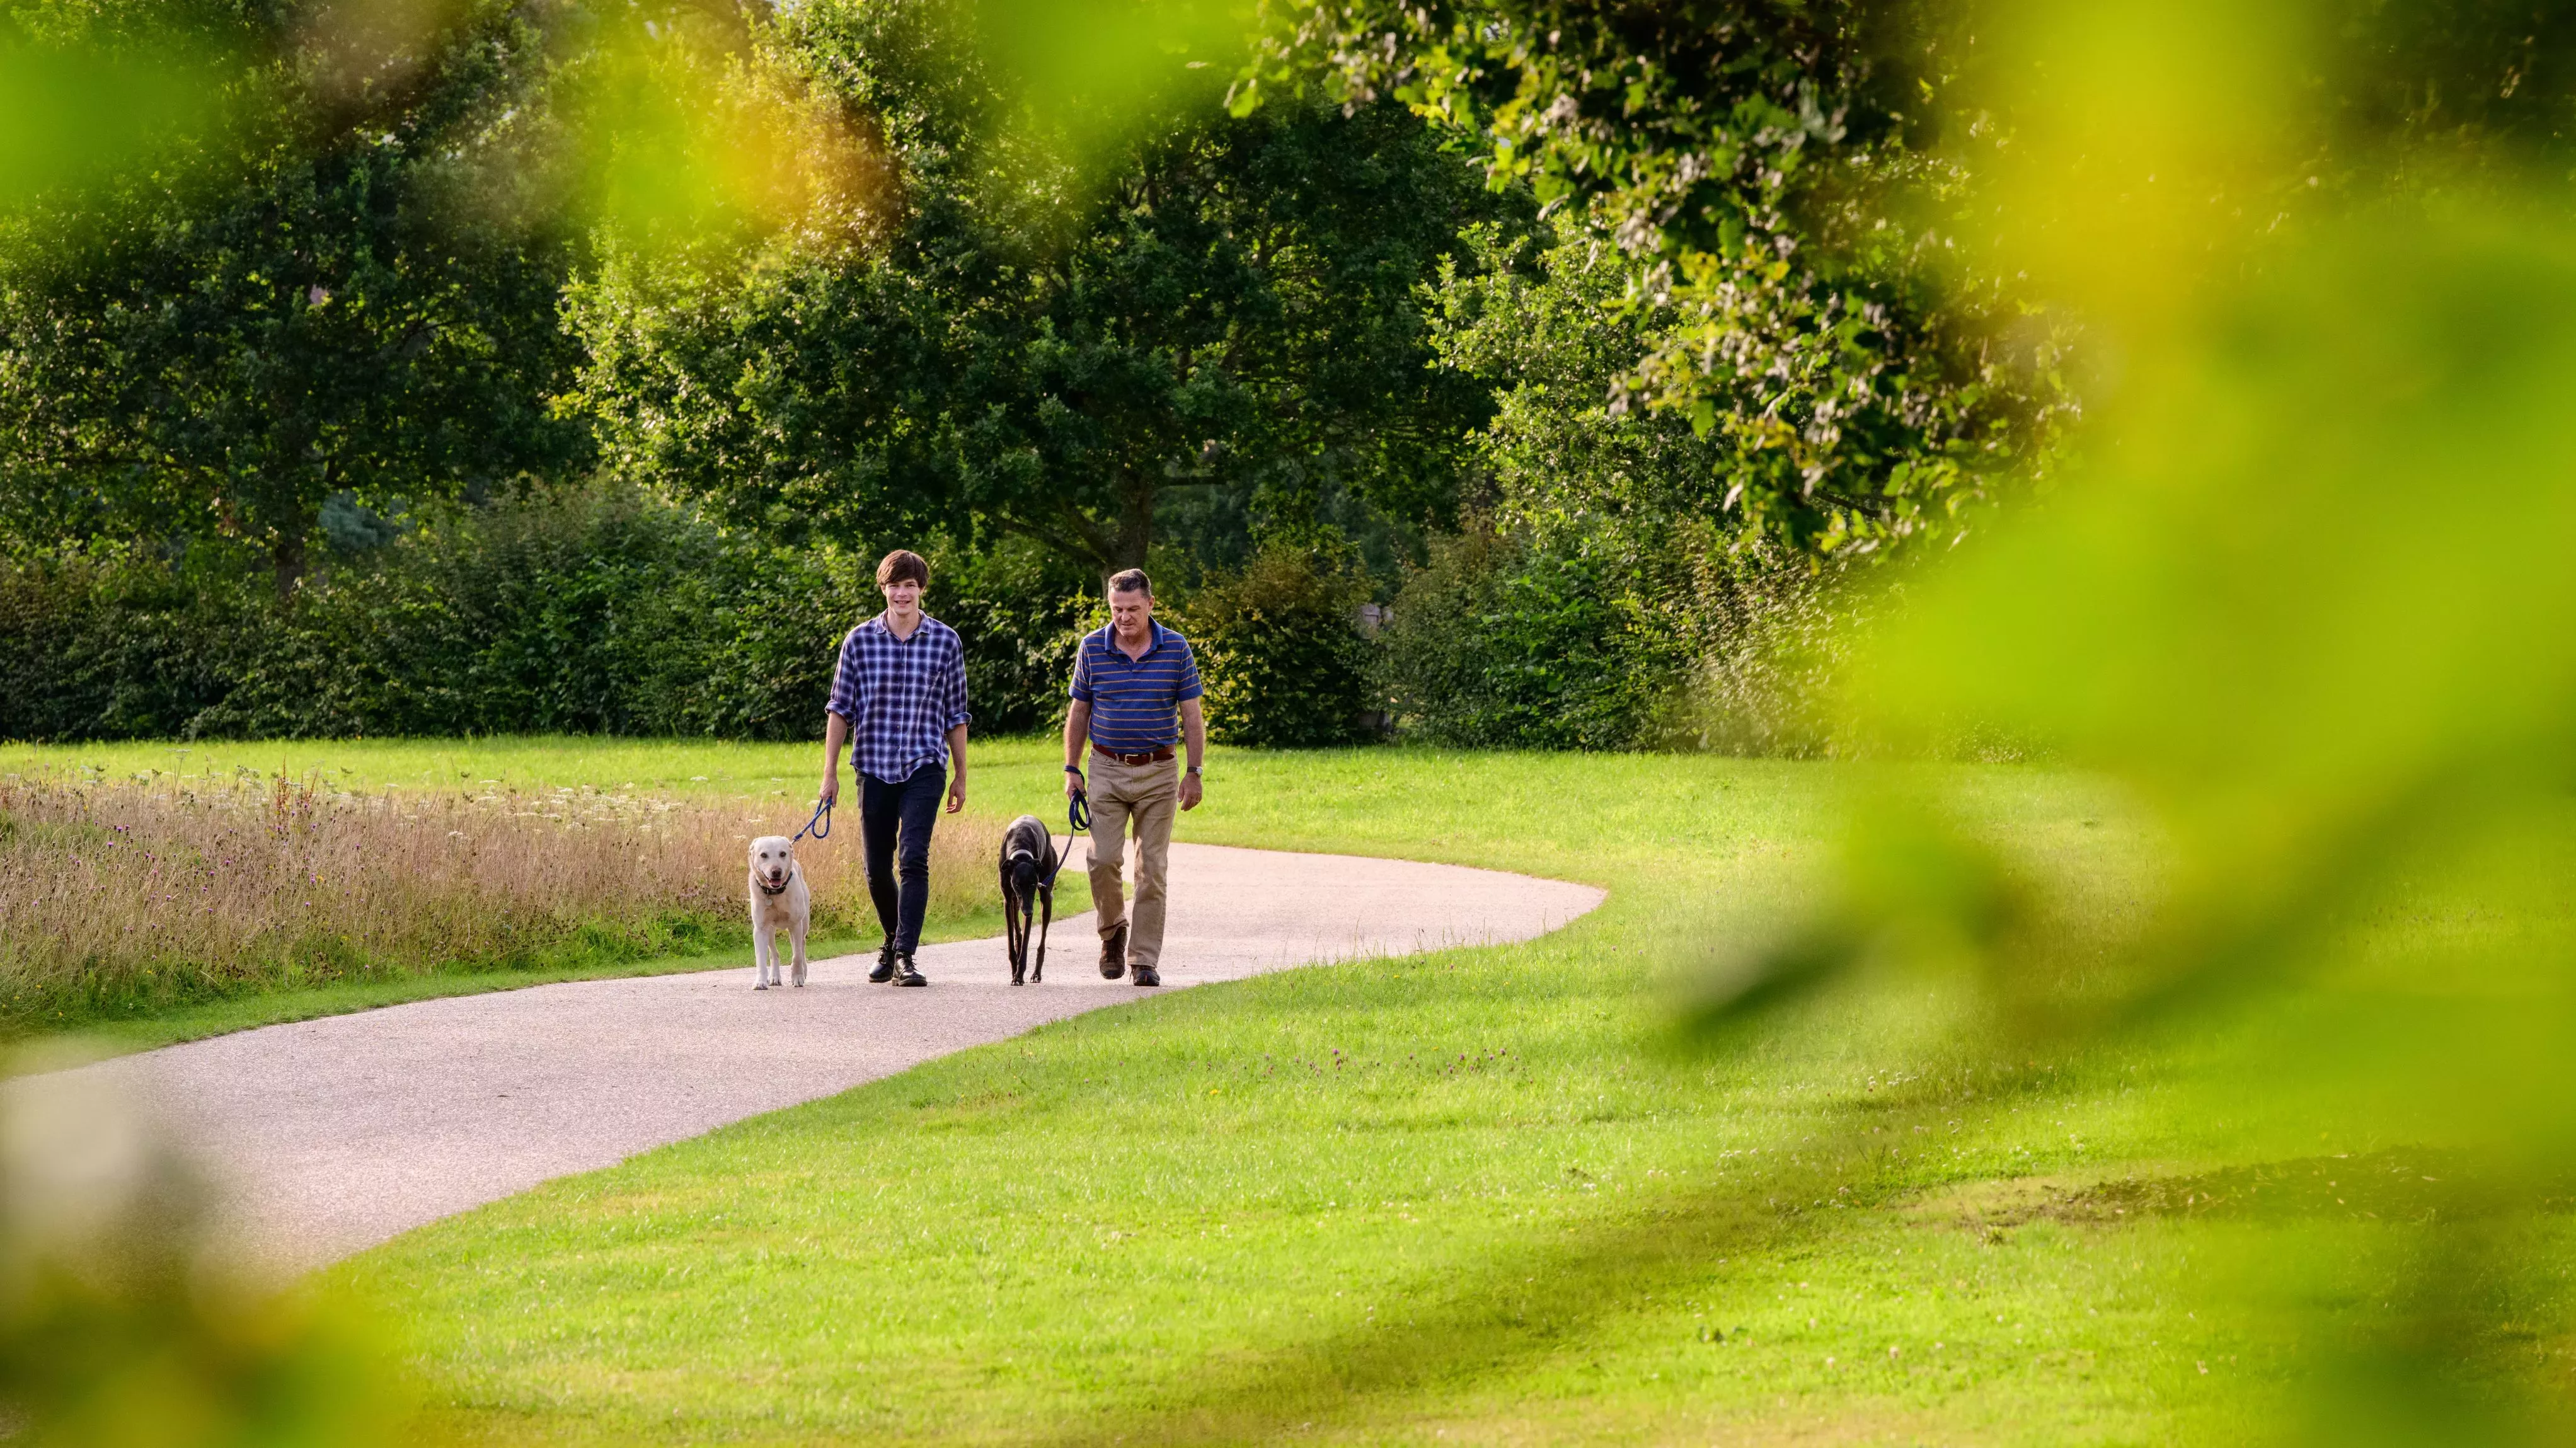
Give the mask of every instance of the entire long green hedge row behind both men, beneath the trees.
[[(979, 732), (1064, 716), (1087, 569), (925, 549)], [(219, 549), (0, 562), (0, 739), (698, 734), (809, 739), (873, 551), (804, 551), (626, 490), (487, 508), (343, 554), (278, 600)], [(1332, 536), (1273, 541), (1167, 603), (1218, 742), (1824, 752), (1837, 593), (1723, 546), (1659, 567), (1582, 538), (1432, 541), (1376, 639)]]

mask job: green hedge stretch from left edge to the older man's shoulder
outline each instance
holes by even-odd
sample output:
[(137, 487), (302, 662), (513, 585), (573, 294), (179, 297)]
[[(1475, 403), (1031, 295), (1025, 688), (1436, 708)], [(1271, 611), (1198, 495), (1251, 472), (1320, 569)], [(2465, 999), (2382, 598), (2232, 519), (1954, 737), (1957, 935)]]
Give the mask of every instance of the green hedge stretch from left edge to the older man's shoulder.
[[(979, 729), (1046, 727), (1087, 580), (1028, 546), (930, 554)], [(791, 551), (618, 487), (330, 557), (283, 605), (222, 549), (62, 549), (0, 567), (0, 737), (796, 739), (881, 605), (876, 551)]]

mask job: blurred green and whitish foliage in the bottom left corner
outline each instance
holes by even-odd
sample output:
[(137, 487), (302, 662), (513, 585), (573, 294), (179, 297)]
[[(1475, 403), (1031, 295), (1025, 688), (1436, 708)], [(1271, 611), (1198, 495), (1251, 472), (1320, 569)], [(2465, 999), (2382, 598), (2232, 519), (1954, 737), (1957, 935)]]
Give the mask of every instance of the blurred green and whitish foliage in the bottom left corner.
[(46, 1448), (394, 1443), (371, 1324), (242, 1260), (180, 1144), (88, 1072), (0, 1090), (0, 1404)]

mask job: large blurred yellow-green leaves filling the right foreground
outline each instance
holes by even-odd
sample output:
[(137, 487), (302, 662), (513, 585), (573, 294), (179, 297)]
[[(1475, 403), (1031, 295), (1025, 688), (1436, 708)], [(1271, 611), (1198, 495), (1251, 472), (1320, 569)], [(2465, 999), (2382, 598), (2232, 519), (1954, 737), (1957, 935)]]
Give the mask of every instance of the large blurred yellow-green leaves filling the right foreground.
[(1899, 776), (1839, 904), (1731, 961), (1713, 1015), (1935, 971), (2056, 1051), (2187, 1043), (2226, 1152), (2439, 1162), (2370, 1242), (2282, 1221), (2215, 1291), (2295, 1301), (2311, 1440), (2555, 1443), (2576, 1409), (2530, 1322), (2576, 1183), (2576, 209), (2563, 167), (2403, 126), (2311, 180), (2331, 21), (1984, 36), (2027, 64), (1996, 67), (2009, 160), (1960, 242), (2081, 317), (2087, 423), (1911, 580), (1850, 709), (1893, 755), (2002, 734), (2117, 778), (2143, 904), (2069, 907), (2084, 881)]

